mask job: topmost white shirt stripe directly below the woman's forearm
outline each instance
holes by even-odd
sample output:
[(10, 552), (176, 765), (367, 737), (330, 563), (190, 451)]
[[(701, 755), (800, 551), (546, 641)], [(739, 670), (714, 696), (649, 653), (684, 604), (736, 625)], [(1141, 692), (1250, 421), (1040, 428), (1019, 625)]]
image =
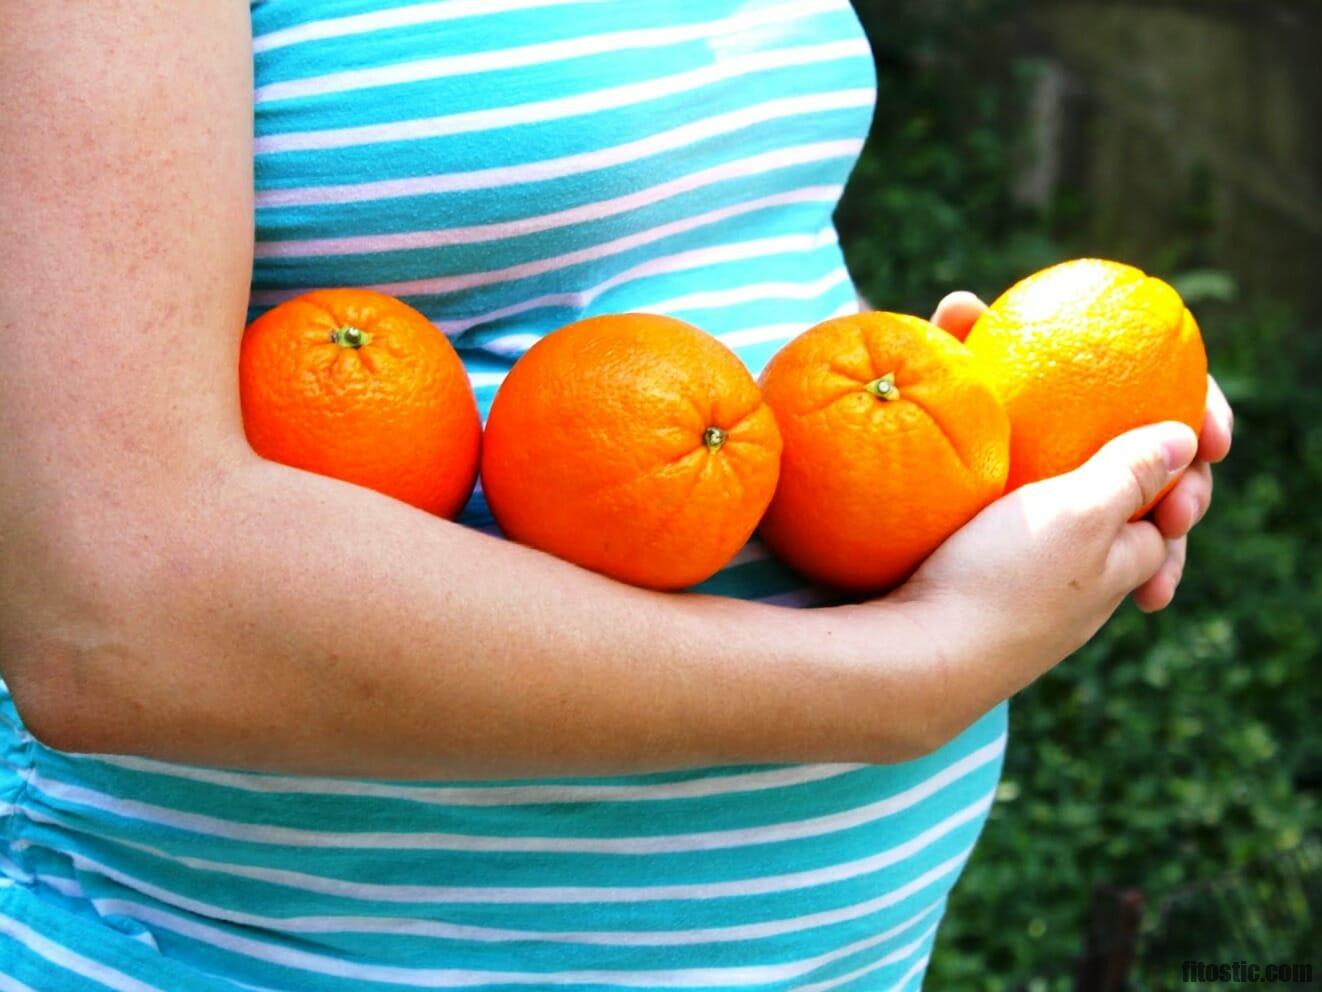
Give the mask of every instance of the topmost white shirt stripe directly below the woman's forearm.
[(661, 782), (653, 786), (391, 786), (374, 780), (254, 775), (242, 771), (219, 771), (186, 765), (171, 765), (136, 755), (79, 755), (102, 765), (114, 765), (132, 771), (168, 775), (193, 782), (206, 782), (246, 792), (279, 792), (287, 795), (342, 795), (371, 796), (374, 799), (401, 799), (410, 803), (436, 806), (541, 806), (559, 803), (625, 803), (662, 799), (694, 799), (752, 792), (764, 788), (785, 788), (805, 782), (822, 782), (866, 765), (796, 765), (773, 771), (750, 771), (735, 775), (713, 775), (682, 782)]

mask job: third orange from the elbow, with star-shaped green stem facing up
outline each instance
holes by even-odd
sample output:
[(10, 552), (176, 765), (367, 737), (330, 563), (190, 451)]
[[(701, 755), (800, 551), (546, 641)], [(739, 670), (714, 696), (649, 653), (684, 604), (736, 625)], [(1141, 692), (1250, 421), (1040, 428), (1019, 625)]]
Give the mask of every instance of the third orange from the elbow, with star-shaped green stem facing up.
[(995, 390), (921, 317), (817, 324), (772, 357), (761, 388), (785, 444), (761, 534), (818, 582), (903, 581), (1005, 488), (1010, 422)]

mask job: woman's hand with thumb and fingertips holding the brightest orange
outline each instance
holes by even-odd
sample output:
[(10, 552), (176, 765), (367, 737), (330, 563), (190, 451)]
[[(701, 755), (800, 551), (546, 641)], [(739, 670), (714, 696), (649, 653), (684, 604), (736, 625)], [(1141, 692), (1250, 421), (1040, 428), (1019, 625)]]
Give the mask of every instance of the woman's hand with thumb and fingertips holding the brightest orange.
[[(962, 339), (985, 308), (952, 294), (933, 323)], [(1212, 384), (1200, 443), (1175, 422), (1128, 431), (1077, 470), (986, 507), (884, 599), (842, 607), (845, 618), (876, 611), (921, 645), (907, 653), (927, 659), (914, 680), (923, 739), (951, 739), (1073, 653), (1126, 595), (1149, 610), (1169, 603), (1185, 534), (1211, 497), (1208, 462), (1228, 447), (1229, 410)], [(1130, 522), (1181, 471), (1150, 517)]]

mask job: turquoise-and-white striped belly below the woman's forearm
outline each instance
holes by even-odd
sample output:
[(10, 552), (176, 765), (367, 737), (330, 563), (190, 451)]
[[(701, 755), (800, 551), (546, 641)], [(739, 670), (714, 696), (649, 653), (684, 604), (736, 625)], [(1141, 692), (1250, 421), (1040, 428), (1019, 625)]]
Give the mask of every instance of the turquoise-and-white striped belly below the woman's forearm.
[(0, 702), (8, 919), (290, 989), (892, 987), (984, 825), (1006, 716), (892, 766), (456, 783), (67, 754)]

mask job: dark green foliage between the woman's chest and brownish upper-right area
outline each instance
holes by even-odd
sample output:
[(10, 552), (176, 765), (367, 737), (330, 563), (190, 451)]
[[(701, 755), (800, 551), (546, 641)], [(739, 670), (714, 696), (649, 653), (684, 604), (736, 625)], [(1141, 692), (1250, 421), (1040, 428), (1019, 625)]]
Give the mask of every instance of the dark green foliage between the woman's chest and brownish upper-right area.
[(876, 61), (876, 114), (836, 224), (878, 310), (927, 315), (949, 288), (992, 299), (1059, 257), (1046, 218), (1010, 196), (1036, 63), (980, 61), (1017, 7), (857, 4)]

